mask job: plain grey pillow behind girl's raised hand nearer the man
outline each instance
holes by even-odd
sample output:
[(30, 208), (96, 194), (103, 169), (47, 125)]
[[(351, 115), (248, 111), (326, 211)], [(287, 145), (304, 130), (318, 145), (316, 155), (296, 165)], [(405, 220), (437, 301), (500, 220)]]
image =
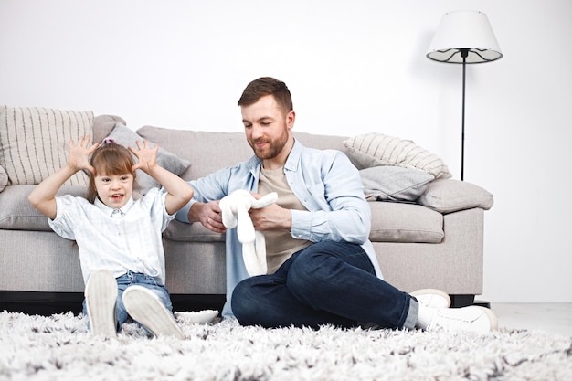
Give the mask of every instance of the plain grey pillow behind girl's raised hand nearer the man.
[[(125, 147), (132, 146), (133, 148), (137, 148), (137, 144), (135, 142), (143, 142), (143, 138), (137, 134), (137, 132), (133, 132), (122, 123), (115, 124), (115, 127), (108, 137), (113, 139), (115, 143), (122, 144)], [(154, 146), (153, 142), (147, 142)], [(137, 160), (137, 158), (135, 158), (135, 160)], [(159, 147), (159, 152), (157, 153), (157, 164), (175, 175), (181, 175), (191, 163), (185, 159), (175, 156), (175, 154), (170, 153), (167, 150), (164, 150), (162, 147)], [(151, 188), (161, 186), (153, 177), (145, 174), (140, 169), (137, 170), (137, 185), (139, 185), (138, 190), (142, 195), (147, 193)]]

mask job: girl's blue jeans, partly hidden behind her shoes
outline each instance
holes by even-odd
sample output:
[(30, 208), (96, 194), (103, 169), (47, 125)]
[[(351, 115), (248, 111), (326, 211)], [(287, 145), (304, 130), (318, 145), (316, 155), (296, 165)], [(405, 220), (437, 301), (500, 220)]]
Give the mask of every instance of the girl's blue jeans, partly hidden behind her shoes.
[[(125, 323), (130, 319), (129, 313), (127, 313), (127, 310), (125, 310), (125, 306), (123, 305), (123, 291), (125, 291), (129, 286), (138, 285), (153, 291), (154, 294), (159, 297), (159, 300), (163, 303), (167, 311), (173, 312), (173, 304), (171, 303), (169, 291), (167, 291), (164, 285), (157, 283), (154, 277), (138, 272), (127, 271), (126, 274), (123, 274), (115, 280), (117, 280), (118, 290), (115, 312), (117, 316), (118, 329), (121, 328), (122, 323)], [(85, 299), (83, 300), (83, 314), (88, 316), (88, 308)]]

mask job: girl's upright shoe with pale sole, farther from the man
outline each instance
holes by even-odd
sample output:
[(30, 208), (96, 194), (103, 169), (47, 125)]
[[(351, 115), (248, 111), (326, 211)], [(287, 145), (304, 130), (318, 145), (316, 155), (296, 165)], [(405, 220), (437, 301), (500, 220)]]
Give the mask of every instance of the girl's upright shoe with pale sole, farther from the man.
[(91, 333), (116, 337), (117, 280), (109, 270), (96, 270), (85, 286), (85, 300), (90, 317)]

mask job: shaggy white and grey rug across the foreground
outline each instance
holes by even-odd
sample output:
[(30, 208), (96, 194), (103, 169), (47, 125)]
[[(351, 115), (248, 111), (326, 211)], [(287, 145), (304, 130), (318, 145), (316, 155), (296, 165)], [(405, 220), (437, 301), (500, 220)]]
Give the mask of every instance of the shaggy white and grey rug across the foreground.
[(182, 329), (148, 339), (125, 324), (105, 340), (81, 315), (0, 312), (0, 380), (572, 380), (572, 338), (539, 331)]

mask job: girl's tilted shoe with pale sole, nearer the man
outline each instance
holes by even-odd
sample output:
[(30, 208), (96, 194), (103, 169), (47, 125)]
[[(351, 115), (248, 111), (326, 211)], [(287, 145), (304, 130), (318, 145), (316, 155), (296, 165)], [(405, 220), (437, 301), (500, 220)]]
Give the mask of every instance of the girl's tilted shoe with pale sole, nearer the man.
[(153, 291), (142, 286), (130, 286), (123, 291), (123, 305), (133, 320), (155, 336), (185, 339), (185, 334), (177, 325), (175, 317)]

